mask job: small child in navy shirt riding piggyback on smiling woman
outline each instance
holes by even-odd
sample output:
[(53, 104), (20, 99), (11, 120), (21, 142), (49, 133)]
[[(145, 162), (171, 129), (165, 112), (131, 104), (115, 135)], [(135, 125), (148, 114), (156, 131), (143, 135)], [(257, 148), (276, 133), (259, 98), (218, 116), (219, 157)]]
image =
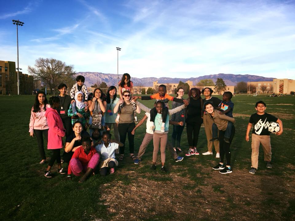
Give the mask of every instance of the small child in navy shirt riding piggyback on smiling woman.
[[(218, 105), (216, 110), (221, 111), (220, 114), (225, 114), (228, 117), (233, 117), (233, 109), (234, 109), (234, 103), (230, 100), (232, 99), (233, 94), (230, 91), (226, 91), (222, 95), (222, 102)], [(224, 142), (229, 143), (230, 142), (230, 135), (231, 135), (231, 129), (232, 129), (233, 123), (228, 122), (226, 131), (224, 134)], [(210, 142), (218, 140), (218, 128), (215, 123), (212, 125), (212, 139)]]

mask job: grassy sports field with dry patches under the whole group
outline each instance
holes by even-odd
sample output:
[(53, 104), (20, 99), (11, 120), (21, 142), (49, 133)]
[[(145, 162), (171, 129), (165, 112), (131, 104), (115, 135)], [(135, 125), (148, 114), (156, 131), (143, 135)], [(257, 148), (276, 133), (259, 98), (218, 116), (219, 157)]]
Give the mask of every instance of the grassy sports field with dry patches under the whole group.
[[(265, 167), (261, 148), (258, 170), (252, 175), (248, 173), (251, 144), (245, 141), (245, 133), (258, 100), (265, 101), (266, 112), (282, 120), (284, 132), (271, 135), (273, 169)], [(238, 95), (232, 99), (233, 173), (214, 171), (215, 155), (185, 157), (184, 130), (180, 156), (185, 159), (176, 163), (167, 150), (167, 174), (160, 172), (160, 155), (156, 171), (149, 169), (152, 142), (139, 165), (128, 157), (127, 142), (124, 161), (113, 175), (92, 176), (82, 184), (77, 177), (67, 180), (57, 174), (56, 166), (52, 179), (43, 176), (46, 165), (39, 164), (36, 138), (28, 133), (33, 101), (32, 95), (0, 96), (0, 220), (295, 220), (295, 97)], [(142, 103), (152, 107), (154, 101)], [(170, 140), (171, 133), (172, 126)], [(145, 124), (136, 130), (136, 153), (144, 134)], [(203, 126), (198, 151), (207, 151)]]

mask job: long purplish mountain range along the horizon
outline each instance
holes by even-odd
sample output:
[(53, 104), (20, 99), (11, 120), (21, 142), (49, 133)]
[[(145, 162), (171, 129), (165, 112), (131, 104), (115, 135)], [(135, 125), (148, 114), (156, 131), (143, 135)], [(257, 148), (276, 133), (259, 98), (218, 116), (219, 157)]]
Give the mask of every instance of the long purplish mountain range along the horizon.
[[(76, 75), (83, 75), (85, 77), (85, 84), (90, 87), (96, 83), (101, 83), (104, 81), (107, 85), (117, 85), (117, 75), (116, 74), (104, 74), (100, 72), (78, 72)], [(122, 75), (119, 75), (119, 81), (122, 78)], [(196, 85), (200, 80), (203, 79), (212, 79), (215, 83), (217, 78), (222, 78), (227, 86), (234, 86), (240, 81), (272, 81), (273, 78), (265, 78), (256, 75), (234, 75), (234, 74), (216, 74), (216, 75), (205, 75), (197, 78), (168, 78), (168, 77), (145, 77), (145, 78), (136, 78), (131, 76), (133, 84), (136, 86), (138, 84), (143, 84), (143, 86), (151, 87), (153, 82), (158, 80), (158, 83), (179, 83), (179, 81), (186, 82), (190, 80), (193, 82), (193, 85)]]

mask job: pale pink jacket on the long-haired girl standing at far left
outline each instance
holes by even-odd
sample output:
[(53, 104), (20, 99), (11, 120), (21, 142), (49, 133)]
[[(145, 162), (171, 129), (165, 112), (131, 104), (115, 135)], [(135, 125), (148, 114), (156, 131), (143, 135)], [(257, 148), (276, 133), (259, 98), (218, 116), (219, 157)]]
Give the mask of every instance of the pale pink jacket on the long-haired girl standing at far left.
[[(49, 104), (46, 105), (46, 109), (50, 107)], [(31, 110), (31, 118), (29, 123), (29, 133), (34, 132), (36, 130), (46, 130), (49, 128), (47, 119), (45, 117), (45, 111), (43, 107), (41, 107), (40, 112), (33, 112), (34, 107)]]

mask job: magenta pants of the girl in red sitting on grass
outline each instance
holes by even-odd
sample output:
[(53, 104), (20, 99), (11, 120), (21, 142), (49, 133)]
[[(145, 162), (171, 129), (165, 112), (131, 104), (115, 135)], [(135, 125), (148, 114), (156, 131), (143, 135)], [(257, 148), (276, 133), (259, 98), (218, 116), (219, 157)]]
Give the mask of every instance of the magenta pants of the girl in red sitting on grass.
[(81, 163), (81, 161), (79, 161), (79, 159), (72, 158), (70, 160), (70, 167), (71, 167), (73, 174), (75, 176), (80, 176), (80, 173), (81, 172), (85, 173), (87, 168), (91, 168), (94, 170), (99, 163), (99, 158), (100, 158), (100, 155), (98, 153), (95, 153), (91, 157), (91, 160), (88, 162), (87, 165), (82, 165), (82, 163)]

